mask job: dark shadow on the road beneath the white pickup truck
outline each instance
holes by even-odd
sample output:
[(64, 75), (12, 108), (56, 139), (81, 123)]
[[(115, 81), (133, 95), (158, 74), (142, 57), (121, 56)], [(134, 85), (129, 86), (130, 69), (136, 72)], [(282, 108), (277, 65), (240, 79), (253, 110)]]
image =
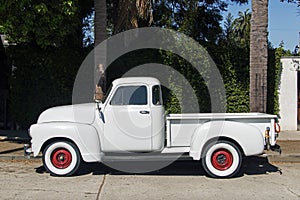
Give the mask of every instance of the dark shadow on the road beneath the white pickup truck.
[[(119, 162), (120, 165), (126, 165), (126, 162)], [(130, 163), (132, 165), (132, 161)], [(46, 173), (43, 166), (36, 168), (37, 173)], [(281, 171), (278, 167), (270, 164), (266, 157), (247, 157), (243, 160), (240, 173), (233, 178), (246, 175), (260, 175)], [(93, 175), (132, 175), (137, 173), (126, 173), (112, 169), (102, 163), (83, 163), (74, 176), (81, 176), (92, 173)], [(175, 161), (167, 167), (149, 173), (138, 173), (137, 175), (156, 175), (156, 176), (205, 176), (199, 161)]]

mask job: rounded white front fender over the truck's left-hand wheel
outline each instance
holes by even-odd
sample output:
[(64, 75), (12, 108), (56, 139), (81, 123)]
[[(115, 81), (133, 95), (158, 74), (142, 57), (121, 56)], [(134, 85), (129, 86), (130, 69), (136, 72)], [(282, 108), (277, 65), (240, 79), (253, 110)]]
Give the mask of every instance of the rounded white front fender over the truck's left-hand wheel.
[(87, 124), (51, 122), (34, 124), (30, 127), (31, 148), (37, 156), (42, 146), (49, 140), (66, 138), (73, 141), (86, 162), (101, 161), (101, 148), (96, 129)]

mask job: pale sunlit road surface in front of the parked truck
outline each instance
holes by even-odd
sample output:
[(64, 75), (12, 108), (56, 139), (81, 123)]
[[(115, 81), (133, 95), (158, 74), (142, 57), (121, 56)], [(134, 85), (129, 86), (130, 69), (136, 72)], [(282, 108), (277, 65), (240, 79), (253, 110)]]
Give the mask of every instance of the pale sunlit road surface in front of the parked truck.
[(300, 199), (300, 163), (244, 161), (231, 179), (206, 177), (195, 161), (148, 174), (84, 164), (73, 177), (52, 177), (40, 160), (0, 161), (0, 199)]

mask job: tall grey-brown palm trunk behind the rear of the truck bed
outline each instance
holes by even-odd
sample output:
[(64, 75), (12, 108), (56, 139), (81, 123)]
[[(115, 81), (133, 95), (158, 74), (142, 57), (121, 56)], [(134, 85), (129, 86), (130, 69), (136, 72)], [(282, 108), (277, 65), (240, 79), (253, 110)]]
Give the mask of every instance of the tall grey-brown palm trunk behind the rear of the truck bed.
[(250, 111), (266, 112), (268, 0), (252, 0), (250, 31)]

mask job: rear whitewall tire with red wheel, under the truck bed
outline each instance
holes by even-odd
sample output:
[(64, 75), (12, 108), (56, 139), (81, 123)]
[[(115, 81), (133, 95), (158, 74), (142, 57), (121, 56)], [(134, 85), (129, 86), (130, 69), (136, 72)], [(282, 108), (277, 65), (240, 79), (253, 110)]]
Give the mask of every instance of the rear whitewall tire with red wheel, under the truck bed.
[(241, 151), (229, 141), (212, 142), (202, 154), (203, 168), (211, 177), (232, 177), (239, 171), (241, 164)]

